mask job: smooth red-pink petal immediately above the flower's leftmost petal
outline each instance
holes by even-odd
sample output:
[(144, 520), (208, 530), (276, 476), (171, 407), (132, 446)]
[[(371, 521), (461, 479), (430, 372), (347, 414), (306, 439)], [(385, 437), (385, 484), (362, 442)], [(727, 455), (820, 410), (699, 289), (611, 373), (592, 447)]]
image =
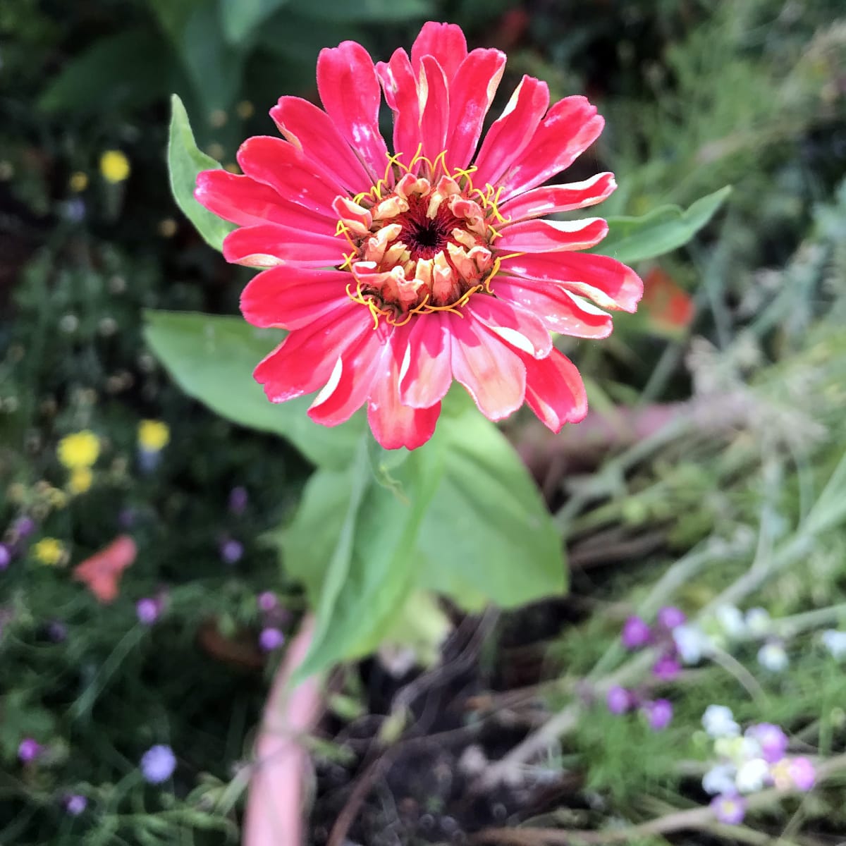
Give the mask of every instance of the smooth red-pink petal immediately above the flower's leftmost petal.
[(269, 185), (287, 201), (332, 222), (337, 219), (332, 200), (341, 193), (341, 186), (327, 179), (293, 144), (270, 135), (255, 135), (240, 146), (237, 159), (247, 176)]

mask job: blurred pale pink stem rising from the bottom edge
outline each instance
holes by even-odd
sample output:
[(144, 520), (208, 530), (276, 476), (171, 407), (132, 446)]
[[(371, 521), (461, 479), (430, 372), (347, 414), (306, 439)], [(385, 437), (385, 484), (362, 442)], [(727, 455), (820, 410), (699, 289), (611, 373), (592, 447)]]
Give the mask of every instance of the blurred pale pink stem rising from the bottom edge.
[(309, 755), (303, 743), (323, 712), (321, 679), (289, 687), (308, 650), (314, 618), (307, 615), (273, 679), (255, 742), (243, 846), (303, 846), (305, 776)]

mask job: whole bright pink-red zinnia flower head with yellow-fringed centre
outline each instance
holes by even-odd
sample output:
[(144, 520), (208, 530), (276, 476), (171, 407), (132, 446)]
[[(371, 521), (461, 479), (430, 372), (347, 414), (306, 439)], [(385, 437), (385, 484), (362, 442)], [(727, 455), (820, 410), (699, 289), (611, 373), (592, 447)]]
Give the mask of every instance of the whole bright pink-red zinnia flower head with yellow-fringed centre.
[(271, 116), (284, 140), (246, 140), (244, 175), (199, 175), (197, 200), (239, 224), (223, 255), (267, 268), (244, 289), (244, 316), (290, 330), (255, 369), (272, 402), (322, 388), (309, 415), (326, 426), (366, 404), (386, 448), (431, 437), (453, 378), (490, 420), (524, 402), (553, 431), (585, 416), (550, 332), (606, 337), (602, 309), (634, 311), (643, 285), (576, 252), (605, 236), (601, 218), (540, 219), (615, 188), (612, 173), (540, 187), (602, 131), (585, 97), (550, 107), (546, 83), (524, 76), (480, 145), (504, 66), (450, 24), (424, 25), (410, 58), (376, 65), (344, 41), (317, 60), (325, 111), (282, 97)]

